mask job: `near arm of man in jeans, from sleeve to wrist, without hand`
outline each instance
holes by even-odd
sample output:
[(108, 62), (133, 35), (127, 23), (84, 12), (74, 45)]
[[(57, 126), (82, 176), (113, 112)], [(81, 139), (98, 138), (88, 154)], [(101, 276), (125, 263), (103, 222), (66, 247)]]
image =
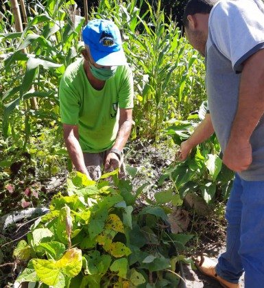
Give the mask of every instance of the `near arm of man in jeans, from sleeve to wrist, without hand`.
[(230, 140), (249, 142), (264, 112), (264, 49), (245, 62), (241, 74), (239, 104)]

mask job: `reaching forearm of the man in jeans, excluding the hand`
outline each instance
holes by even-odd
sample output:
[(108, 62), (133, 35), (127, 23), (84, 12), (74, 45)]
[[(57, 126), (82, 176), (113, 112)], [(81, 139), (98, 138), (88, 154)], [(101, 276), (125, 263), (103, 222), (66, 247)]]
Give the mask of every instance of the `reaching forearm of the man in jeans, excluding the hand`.
[(187, 143), (190, 147), (195, 147), (196, 145), (206, 141), (213, 132), (215, 132), (215, 130), (213, 128), (211, 115), (206, 114), (204, 120), (197, 126), (189, 139), (187, 139)]

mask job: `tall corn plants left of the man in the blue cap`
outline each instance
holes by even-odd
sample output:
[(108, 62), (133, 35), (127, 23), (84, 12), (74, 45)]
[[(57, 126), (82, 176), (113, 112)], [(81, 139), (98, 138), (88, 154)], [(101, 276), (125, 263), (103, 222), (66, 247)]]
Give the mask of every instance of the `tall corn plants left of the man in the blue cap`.
[[(1, 42), (11, 47), (10, 53), (3, 56), (3, 68), (10, 76), (1, 99), (4, 103), (3, 135), (6, 138), (12, 134), (14, 138), (18, 134), (16, 123), (10, 121), (10, 116), (18, 109), (24, 119), (24, 149), (29, 143), (34, 119), (47, 125), (53, 121), (58, 123), (58, 83), (80, 52), (78, 39), (84, 23), (83, 19), (75, 22), (71, 4), (74, 2), (49, 0), (45, 7), (38, 4), (38, 11), (32, 9), (34, 15), (29, 17), (23, 33), (6, 33), (1, 29)], [(23, 53), (24, 49), (27, 53)], [(30, 108), (28, 99), (32, 97), (38, 97), (39, 110)]]

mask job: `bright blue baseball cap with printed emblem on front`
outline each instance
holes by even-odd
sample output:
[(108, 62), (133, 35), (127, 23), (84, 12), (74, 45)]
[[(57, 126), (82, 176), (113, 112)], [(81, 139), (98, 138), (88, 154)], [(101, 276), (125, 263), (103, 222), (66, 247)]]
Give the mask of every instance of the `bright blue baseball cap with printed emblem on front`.
[(127, 64), (119, 29), (112, 21), (89, 21), (82, 31), (82, 38), (90, 48), (95, 63), (104, 66)]

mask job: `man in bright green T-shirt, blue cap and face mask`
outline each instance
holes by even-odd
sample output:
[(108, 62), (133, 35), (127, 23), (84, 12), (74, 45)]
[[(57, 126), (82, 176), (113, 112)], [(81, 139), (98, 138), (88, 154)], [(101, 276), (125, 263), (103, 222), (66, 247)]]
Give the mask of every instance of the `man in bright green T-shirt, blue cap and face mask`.
[(60, 115), (73, 165), (90, 179), (101, 169), (120, 167), (132, 128), (133, 77), (118, 27), (89, 21), (82, 32), (85, 49), (60, 82)]

